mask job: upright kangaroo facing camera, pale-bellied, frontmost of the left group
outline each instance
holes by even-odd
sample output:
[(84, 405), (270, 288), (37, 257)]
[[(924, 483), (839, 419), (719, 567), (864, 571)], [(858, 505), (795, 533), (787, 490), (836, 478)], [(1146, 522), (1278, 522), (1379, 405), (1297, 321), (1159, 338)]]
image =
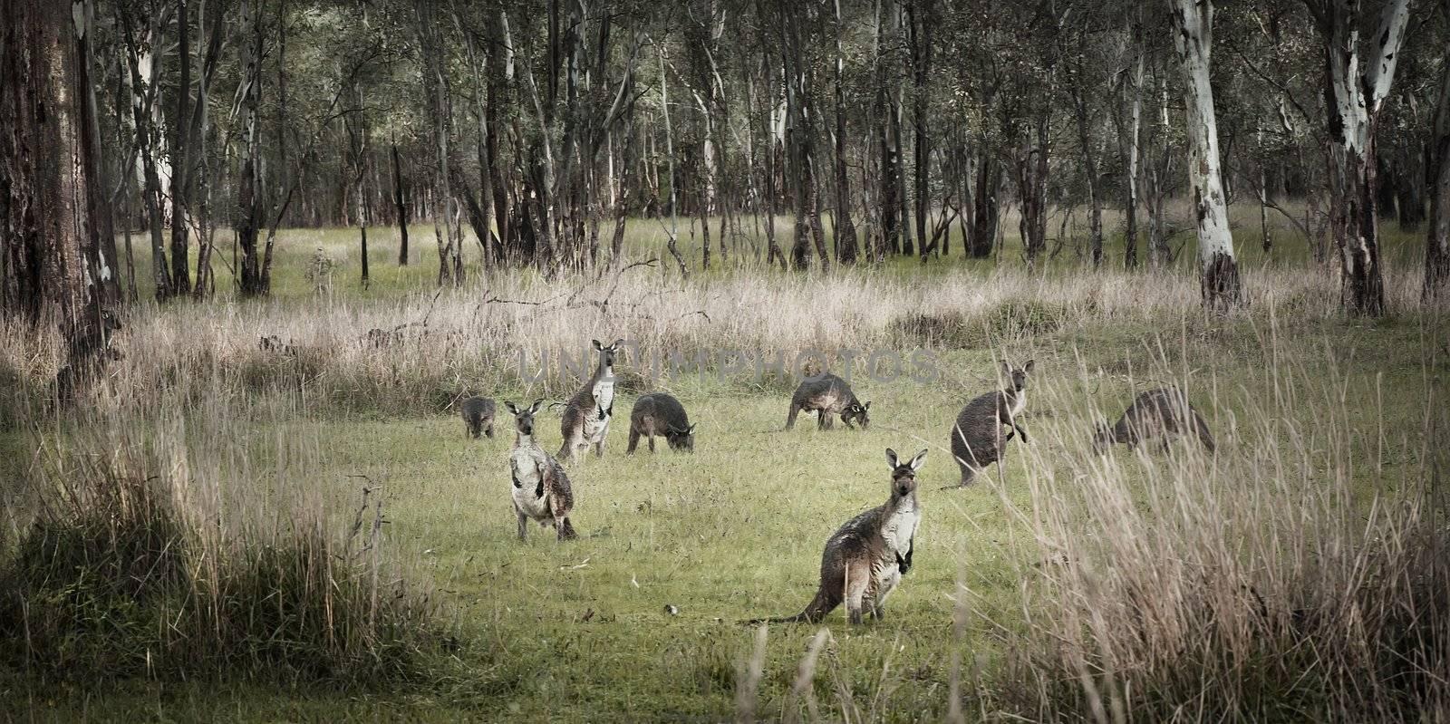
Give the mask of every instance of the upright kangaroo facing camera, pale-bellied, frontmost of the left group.
[(526, 540), (531, 519), (539, 525), (552, 525), (561, 541), (577, 538), (574, 525), (568, 522), (568, 514), (574, 509), (574, 490), (568, 485), (568, 476), (558, 460), (534, 441), (534, 414), (544, 400), (534, 400), (528, 408), (518, 408), (512, 402), (503, 405), (513, 414), (513, 427), (518, 429), (513, 450), (509, 451), (509, 470), (513, 477), (513, 512), (519, 515), (519, 540)]

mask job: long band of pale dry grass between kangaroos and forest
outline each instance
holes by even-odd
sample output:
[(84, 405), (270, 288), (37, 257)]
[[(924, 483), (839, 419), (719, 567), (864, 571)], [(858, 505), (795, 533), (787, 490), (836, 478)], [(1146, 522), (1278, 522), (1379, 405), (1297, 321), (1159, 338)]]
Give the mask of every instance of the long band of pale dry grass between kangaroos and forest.
[[(1389, 309), (1420, 313), (1417, 277), (1392, 270), (1388, 280)], [(1244, 286), (1240, 316), (1262, 318), (1273, 306), (1301, 322), (1341, 318), (1338, 289), (1320, 270), (1246, 270)], [(634, 342), (645, 358), (626, 367), (638, 370), (647, 363), (664, 369), (654, 360), (668, 354), (693, 358), (721, 348), (989, 347), (1122, 324), (1211, 326), (1198, 281), (1174, 273), (1003, 268), (919, 280), (871, 268), (757, 270), (687, 283), (648, 267), (555, 283), (508, 274), (392, 302), (142, 308), (116, 340), (126, 357), (110, 367), (91, 405), (155, 411), (164, 390), (193, 406), (216, 395), (267, 395), (310, 414), (410, 414), (442, 409), (468, 390), (567, 395), (576, 379), (560, 354), (587, 370), (592, 338)], [(264, 337), (276, 337), (280, 348), (262, 348)], [(7, 383), (0, 412), (33, 419), (61, 364), (61, 344), (17, 326), (0, 328), (0, 341)]]

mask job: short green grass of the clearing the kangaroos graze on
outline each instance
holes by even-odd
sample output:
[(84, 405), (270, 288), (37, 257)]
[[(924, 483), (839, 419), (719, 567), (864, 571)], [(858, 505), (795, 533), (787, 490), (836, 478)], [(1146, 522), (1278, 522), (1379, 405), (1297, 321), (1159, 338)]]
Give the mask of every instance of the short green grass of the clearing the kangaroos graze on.
[[(1015, 223), (1011, 229), (1015, 235)], [(300, 268), (319, 245), (344, 260), (334, 281), (339, 299), (387, 300), (431, 290), (436, 273), (431, 239), (416, 234), (416, 261), (402, 268), (392, 261), (396, 251), (386, 234), (373, 236), (373, 284), (361, 290), (349, 257), (354, 232), (286, 232), (274, 271), (276, 303), (294, 305), (313, 295)], [(638, 232), (631, 238), (632, 254), (648, 254), (657, 242), (657, 234)], [(1414, 258), (1420, 248), (1411, 235), (1396, 236), (1393, 244), (1396, 258)], [(1302, 241), (1282, 235), (1280, 254), (1302, 261), (1302, 255), (1295, 258), (1295, 245), (1302, 250)], [(1264, 264), (1257, 245), (1240, 247), (1246, 264)], [(960, 242), (954, 248), (960, 252)], [(1009, 248), (1003, 258), (1016, 264), (1011, 241)], [(1183, 264), (1188, 260), (1180, 260)], [(929, 286), (945, 266), (898, 260), (882, 273)], [(1057, 268), (1067, 273), (1066, 266)], [(219, 273), (219, 287), (226, 286), (225, 279)], [(1034, 325), (1038, 316), (1051, 316), (1047, 308), (1030, 306), (1027, 312)], [(884, 622), (851, 628), (840, 609), (826, 621), (832, 641), (816, 667), (813, 696), (828, 720), (853, 707), (858, 709), (853, 717), (876, 721), (942, 720), (953, 651), (964, 660), (964, 689), (985, 691), (1014, 649), (1027, 643), (1024, 606), (1041, 604), (1031, 592), (1043, 561), (1028, 553), (1034, 550), (1031, 527), (1011, 511), (1032, 511), (1037, 501), (1030, 482), (1072, 480), (1092, 469), (1096, 463), (1085, 451), (1092, 419), (1099, 411), (1121, 411), (1132, 392), (1186, 373), (1193, 380), (1190, 396), (1219, 435), (1221, 454), (1234, 456), (1262, 443), (1240, 438), (1237, 431), (1250, 429), (1251, 418), (1263, 412), (1262, 400), (1282, 380), (1269, 373), (1266, 357), (1275, 353), (1306, 360), (1306, 367), (1334, 373), (1304, 380), (1305, 389), (1341, 393), (1346, 411), (1373, 412), (1344, 422), (1344, 429), (1354, 432), (1347, 445), (1362, 460), (1380, 461), (1350, 466), (1360, 501), (1411, 485), (1418, 474), (1411, 453), (1422, 429), (1427, 377), (1446, 371), (1444, 357), (1437, 360), (1427, 350), (1443, 344), (1444, 326), (1414, 315), (1372, 324), (1290, 318), (1279, 321), (1277, 340), (1266, 345), (1267, 313), (1259, 312), (1221, 325), (1183, 321), (1179, 328), (1132, 321), (1061, 328), (1044, 322), (1009, 350), (992, 350), (986, 338), (958, 338), (957, 344), (972, 345), (942, 351), (940, 382), (857, 382), (858, 396), (873, 400), (871, 427), (864, 432), (840, 425), (816, 431), (809, 418), (786, 432), (787, 390), (686, 379), (660, 389), (676, 393), (699, 424), (696, 453), (671, 453), (661, 441), (660, 453), (641, 448), (625, 456), (634, 402), (632, 395), (625, 396), (616, 400), (605, 457), (590, 456), (570, 469), (577, 499), (573, 521), (580, 532), (571, 543), (557, 543), (551, 530), (538, 527), (529, 530), (528, 543), (515, 540), (506, 461), (513, 435), (502, 405), (499, 437), (483, 441), (465, 440), (461, 421), (436, 412), (431, 402), (410, 415), (357, 412), (329, 416), (316, 429), (300, 425), (318, 435), (319, 469), (291, 479), (293, 485), (306, 486), (307, 495), (341, 511), (357, 496), (360, 479), (381, 486), (390, 521), (386, 535), (394, 554), (412, 580), (434, 589), (452, 617), (463, 647), (438, 654), (429, 683), (336, 692), (245, 682), (125, 680), (38, 691), (17, 673), (0, 673), (0, 717), (725, 720), (735, 711), (738, 672), (754, 640), (754, 630), (741, 621), (795, 614), (809, 601), (825, 540), (841, 522), (886, 498), (883, 451), (892, 447), (902, 454), (931, 450), (919, 477), (925, 515), (915, 567), (889, 601)], [(1005, 313), (1011, 324), (1021, 316)], [(993, 355), (1003, 353), (1037, 360), (1025, 421), (1031, 447), (1014, 443), (1005, 464), (989, 469), (974, 488), (940, 490), (958, 479), (945, 448), (948, 428), (967, 399), (995, 387)], [(500, 402), (528, 395), (519, 389), (484, 392)], [(1208, 400), (1217, 405), (1208, 406)], [(1295, 411), (1282, 414), (1314, 425), (1295, 418)], [(1375, 419), (1379, 415), (1383, 425)], [(541, 444), (555, 451), (557, 416), (542, 415), (541, 429)], [(294, 432), (283, 424), (248, 434), (280, 440)], [(0, 437), (4, 448), (17, 447), (13, 440)], [(1118, 457), (1130, 489), (1144, 490), (1151, 460), (1121, 450)], [(251, 464), (265, 470), (268, 461)], [(1309, 467), (1328, 472), (1337, 464), (1315, 461)], [(963, 637), (953, 641), (958, 561), (960, 580), (970, 592), (969, 617)], [(668, 615), (666, 605), (679, 606), (679, 615)], [(770, 627), (760, 686), (763, 715), (784, 711), (815, 631), (811, 625)], [(983, 694), (969, 701), (995, 707), (998, 699)], [(969, 711), (969, 717), (977, 714)]]

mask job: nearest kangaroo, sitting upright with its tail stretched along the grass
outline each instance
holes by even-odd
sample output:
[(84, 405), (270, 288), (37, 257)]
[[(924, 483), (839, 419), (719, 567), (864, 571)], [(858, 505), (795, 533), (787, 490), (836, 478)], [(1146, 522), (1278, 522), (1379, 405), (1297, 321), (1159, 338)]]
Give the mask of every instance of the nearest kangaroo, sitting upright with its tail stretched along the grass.
[(819, 624), (835, 606), (845, 601), (845, 617), (861, 622), (863, 606), (870, 606), (871, 618), (886, 615), (886, 596), (911, 570), (916, 528), (921, 525), (921, 505), (916, 502), (916, 470), (927, 460), (927, 451), (916, 453), (909, 463), (886, 450), (886, 464), (892, 469), (892, 489), (886, 503), (871, 508), (842, 525), (825, 543), (821, 554), (821, 586), (806, 609), (786, 618), (758, 618), (761, 622)]

